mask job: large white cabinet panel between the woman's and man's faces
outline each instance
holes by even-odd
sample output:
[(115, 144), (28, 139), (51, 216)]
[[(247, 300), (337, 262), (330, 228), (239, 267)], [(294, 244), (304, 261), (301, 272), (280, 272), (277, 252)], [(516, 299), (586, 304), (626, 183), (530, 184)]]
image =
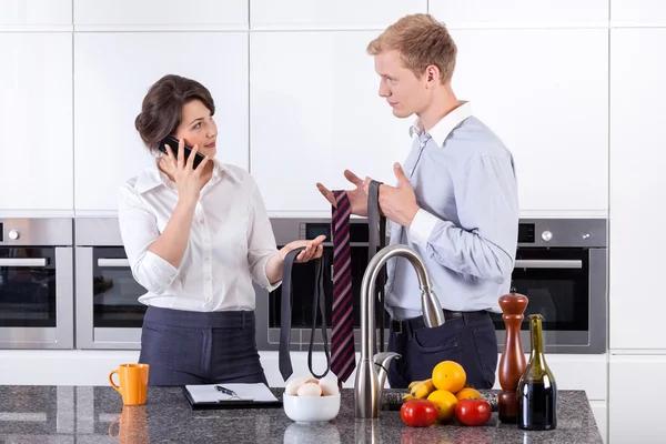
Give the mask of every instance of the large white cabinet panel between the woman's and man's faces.
[[(412, 140), (412, 119), (377, 94), (367, 42), (376, 32), (251, 36), (251, 171), (269, 211), (326, 211), (316, 190), (347, 188), (350, 169), (393, 183)], [(290, 48), (284, 51), (284, 48)]]

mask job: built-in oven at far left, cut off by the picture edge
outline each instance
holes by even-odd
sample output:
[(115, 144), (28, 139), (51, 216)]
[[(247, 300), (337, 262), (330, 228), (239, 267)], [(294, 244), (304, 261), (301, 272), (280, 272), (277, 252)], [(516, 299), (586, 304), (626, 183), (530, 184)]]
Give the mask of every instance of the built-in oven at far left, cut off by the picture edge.
[(0, 349), (72, 349), (72, 220), (0, 219)]

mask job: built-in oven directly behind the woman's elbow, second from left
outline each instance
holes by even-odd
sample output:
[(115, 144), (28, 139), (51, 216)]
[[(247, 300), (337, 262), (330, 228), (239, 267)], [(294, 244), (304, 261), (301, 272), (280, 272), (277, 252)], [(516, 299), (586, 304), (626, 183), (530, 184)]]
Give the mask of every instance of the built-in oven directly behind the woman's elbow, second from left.
[(132, 276), (117, 218), (78, 218), (77, 347), (139, 350), (147, 293)]

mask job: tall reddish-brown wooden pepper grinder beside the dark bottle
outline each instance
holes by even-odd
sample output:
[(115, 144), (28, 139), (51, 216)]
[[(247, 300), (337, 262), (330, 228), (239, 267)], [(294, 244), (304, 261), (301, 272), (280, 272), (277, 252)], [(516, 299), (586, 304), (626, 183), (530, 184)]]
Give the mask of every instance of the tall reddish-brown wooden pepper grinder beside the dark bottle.
[(502, 393), (497, 396), (497, 414), (503, 423), (516, 422), (516, 389), (527, 365), (521, 342), (521, 324), (528, 302), (527, 296), (516, 293), (515, 289), (500, 297), (500, 306), (504, 313), (502, 319), (506, 325), (506, 341), (498, 370)]

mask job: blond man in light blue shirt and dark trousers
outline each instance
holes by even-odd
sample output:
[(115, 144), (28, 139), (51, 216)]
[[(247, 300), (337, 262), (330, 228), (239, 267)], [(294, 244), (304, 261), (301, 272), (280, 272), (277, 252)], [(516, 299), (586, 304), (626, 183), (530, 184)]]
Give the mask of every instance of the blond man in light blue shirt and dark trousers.
[[(497, 341), (488, 311), (509, 291), (517, 246), (518, 198), (512, 154), (458, 101), (451, 79), (456, 46), (428, 14), (407, 16), (370, 42), (380, 75), (380, 95), (393, 114), (417, 119), (412, 150), (394, 165), (397, 185), (380, 186), (380, 208), (392, 222), (391, 243), (407, 244), (425, 261), (444, 309), (444, 325), (424, 326), (421, 291), (404, 259), (387, 265), (389, 350), (402, 355), (389, 371), (393, 387), (431, 377), (446, 360), (460, 363), (467, 383), (495, 383)], [(344, 172), (352, 212), (367, 214), (367, 184)], [(317, 183), (334, 204), (331, 191)]]

